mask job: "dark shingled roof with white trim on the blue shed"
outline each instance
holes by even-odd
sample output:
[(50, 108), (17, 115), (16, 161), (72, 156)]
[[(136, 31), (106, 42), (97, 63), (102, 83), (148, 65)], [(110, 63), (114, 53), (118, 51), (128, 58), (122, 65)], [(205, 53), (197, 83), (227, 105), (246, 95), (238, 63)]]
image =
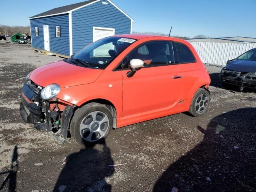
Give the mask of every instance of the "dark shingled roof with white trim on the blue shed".
[[(88, 0), (88, 1), (80, 2), (80, 3), (75, 3), (75, 4), (71, 4), (71, 5), (67, 5), (67, 6), (54, 8), (49, 11), (34, 15), (28, 19), (48, 17), (48, 16), (54, 16), (54, 15), (60, 15), (60, 14), (67, 14), (70, 11), (72, 12), (74, 10), (77, 10), (79, 8), (82, 8), (89, 4), (93, 4), (98, 1), (100, 1), (100, 0)], [(123, 14), (125, 14), (128, 18), (130, 18), (130, 20), (133, 21), (133, 19), (130, 16), (128, 16), (128, 14), (126, 14), (124, 11), (122, 11), (120, 8), (118, 8), (118, 6), (116, 6), (113, 2), (111, 2), (110, 0), (106, 0), (106, 1), (110, 2), (113, 6), (115, 6), (118, 10), (120, 10)]]

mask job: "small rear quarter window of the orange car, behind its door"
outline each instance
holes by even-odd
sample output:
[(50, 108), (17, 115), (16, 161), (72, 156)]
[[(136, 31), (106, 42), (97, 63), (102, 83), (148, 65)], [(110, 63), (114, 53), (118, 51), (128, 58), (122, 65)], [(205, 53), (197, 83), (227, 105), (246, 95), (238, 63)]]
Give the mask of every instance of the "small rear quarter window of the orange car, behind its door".
[(186, 45), (182, 43), (177, 43), (177, 42), (175, 42), (175, 45), (176, 45), (179, 63), (196, 62), (194, 55)]

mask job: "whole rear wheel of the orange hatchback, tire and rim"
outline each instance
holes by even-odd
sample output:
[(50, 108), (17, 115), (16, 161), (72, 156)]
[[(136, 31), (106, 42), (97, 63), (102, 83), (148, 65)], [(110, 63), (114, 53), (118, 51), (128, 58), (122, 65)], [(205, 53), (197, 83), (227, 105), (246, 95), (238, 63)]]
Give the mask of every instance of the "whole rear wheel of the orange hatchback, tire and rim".
[(198, 117), (203, 115), (208, 109), (210, 102), (210, 94), (207, 90), (200, 88), (192, 99), (192, 103), (190, 105), (189, 113)]

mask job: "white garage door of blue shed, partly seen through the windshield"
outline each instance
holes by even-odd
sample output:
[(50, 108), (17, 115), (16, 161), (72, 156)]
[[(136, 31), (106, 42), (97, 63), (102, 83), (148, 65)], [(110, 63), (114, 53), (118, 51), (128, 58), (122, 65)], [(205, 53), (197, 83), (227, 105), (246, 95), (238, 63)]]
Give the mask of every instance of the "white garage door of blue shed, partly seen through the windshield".
[[(115, 35), (115, 29), (112, 28), (102, 28), (102, 27), (94, 27), (93, 28), (93, 42), (98, 41), (102, 38), (109, 37)], [(100, 46), (99, 48), (96, 48), (94, 50), (94, 56), (95, 57), (102, 57), (106, 56), (108, 57), (108, 51), (110, 49), (114, 49), (114, 45), (112, 43), (105, 44), (103, 46)]]

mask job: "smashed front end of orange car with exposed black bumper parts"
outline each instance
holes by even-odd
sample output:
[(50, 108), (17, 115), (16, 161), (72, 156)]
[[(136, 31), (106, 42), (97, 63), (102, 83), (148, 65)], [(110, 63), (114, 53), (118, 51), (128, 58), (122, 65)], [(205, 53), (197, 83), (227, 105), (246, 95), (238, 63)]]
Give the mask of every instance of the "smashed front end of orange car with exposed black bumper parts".
[(58, 99), (45, 101), (40, 98), (36, 85), (25, 83), (22, 88), (20, 115), (24, 122), (34, 124), (37, 130), (48, 132), (60, 129), (60, 134), (68, 138), (70, 120), (75, 106), (62, 103)]

